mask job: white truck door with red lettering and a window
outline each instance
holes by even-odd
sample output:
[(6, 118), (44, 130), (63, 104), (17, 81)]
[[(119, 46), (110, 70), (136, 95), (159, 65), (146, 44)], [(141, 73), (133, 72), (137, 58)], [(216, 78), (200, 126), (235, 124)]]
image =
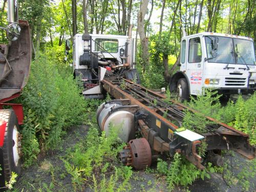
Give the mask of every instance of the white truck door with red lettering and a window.
[(201, 95), (203, 86), (202, 39), (200, 37), (191, 37), (188, 39), (187, 46), (186, 74), (189, 80), (190, 95)]

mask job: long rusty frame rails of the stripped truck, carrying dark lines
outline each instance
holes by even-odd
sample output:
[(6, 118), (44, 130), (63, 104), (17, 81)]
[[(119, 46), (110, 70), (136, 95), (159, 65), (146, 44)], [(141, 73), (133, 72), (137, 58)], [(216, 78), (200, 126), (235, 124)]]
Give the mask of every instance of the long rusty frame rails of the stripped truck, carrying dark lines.
[[(114, 77), (101, 82), (103, 88), (115, 99), (125, 100), (125, 103), (128, 100), (130, 105), (138, 105), (139, 110), (135, 113), (137, 129), (150, 143), (155, 154), (168, 152), (173, 156), (178, 152), (198, 168), (204, 168), (202, 158), (198, 155), (201, 141), (191, 141), (177, 134), (182, 126), (184, 111), (200, 114), (199, 112), (175, 100), (167, 101), (164, 95), (124, 78)], [(205, 126), (204, 133), (200, 133), (207, 143), (207, 151), (233, 150), (248, 159), (255, 157), (255, 147), (249, 144), (247, 134), (201, 115), (210, 122)]]

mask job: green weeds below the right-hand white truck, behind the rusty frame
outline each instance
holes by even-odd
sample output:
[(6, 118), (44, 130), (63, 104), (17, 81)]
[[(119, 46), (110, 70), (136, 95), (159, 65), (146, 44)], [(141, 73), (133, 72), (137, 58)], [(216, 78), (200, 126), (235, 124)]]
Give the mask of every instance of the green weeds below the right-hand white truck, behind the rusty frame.
[(193, 114), (188, 110), (185, 111), (182, 125), (191, 131), (205, 133), (207, 132), (204, 129), (205, 125), (211, 122), (205, 119), (204, 115), (210, 116), (248, 134), (250, 143), (255, 144), (256, 94), (254, 93), (248, 99), (239, 96), (236, 102), (229, 101), (226, 106), (221, 106), (220, 97), (221, 95), (216, 95), (212, 90), (205, 90), (205, 95), (197, 98), (191, 97), (186, 104), (200, 113)]

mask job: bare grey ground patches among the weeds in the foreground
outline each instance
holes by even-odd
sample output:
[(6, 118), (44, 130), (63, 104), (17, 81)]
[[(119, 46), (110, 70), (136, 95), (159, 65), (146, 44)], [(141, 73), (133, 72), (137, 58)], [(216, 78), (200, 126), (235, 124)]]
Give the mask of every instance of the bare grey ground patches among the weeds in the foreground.
[[(61, 158), (66, 155), (69, 148), (86, 136), (87, 131), (88, 126), (86, 125), (71, 129), (57, 150), (49, 151), (44, 157), (39, 157), (34, 165), (23, 168), (19, 180), (14, 185), (14, 191), (74, 191), (71, 176), (66, 172)], [(225, 158), (231, 157), (226, 156)], [(233, 172), (235, 174), (240, 172), (246, 161), (240, 155), (232, 157)], [(250, 182), (256, 186), (255, 178)], [(131, 191), (168, 191), (165, 178), (156, 173), (156, 164), (147, 170), (134, 170), (131, 186)], [(92, 191), (89, 186), (84, 188), (84, 191)], [(242, 191), (241, 186), (238, 185), (228, 187), (220, 174), (212, 174), (211, 179), (197, 180), (188, 188), (177, 187), (174, 191), (187, 190), (191, 192)], [(256, 191), (256, 189), (251, 188), (250, 191)]]

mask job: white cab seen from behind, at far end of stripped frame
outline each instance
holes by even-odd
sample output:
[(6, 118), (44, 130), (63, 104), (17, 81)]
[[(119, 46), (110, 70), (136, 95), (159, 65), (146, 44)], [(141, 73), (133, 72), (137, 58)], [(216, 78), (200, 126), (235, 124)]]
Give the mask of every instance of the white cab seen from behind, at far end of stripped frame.
[[(100, 80), (105, 74), (136, 79), (134, 39), (129, 35), (76, 34), (73, 37), (74, 77), (83, 82), (86, 98), (103, 98)], [(68, 48), (69, 49), (69, 48)]]

